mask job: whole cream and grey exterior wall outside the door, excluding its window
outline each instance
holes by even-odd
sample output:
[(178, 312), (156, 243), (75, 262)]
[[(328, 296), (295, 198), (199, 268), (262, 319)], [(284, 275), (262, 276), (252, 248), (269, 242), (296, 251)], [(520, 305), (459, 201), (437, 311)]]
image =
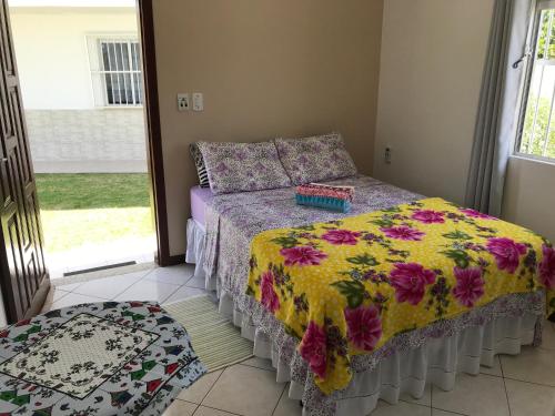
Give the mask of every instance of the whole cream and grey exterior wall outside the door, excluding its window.
[(88, 37), (138, 33), (133, 7), (12, 7), (37, 172), (145, 172), (141, 108), (95, 106)]

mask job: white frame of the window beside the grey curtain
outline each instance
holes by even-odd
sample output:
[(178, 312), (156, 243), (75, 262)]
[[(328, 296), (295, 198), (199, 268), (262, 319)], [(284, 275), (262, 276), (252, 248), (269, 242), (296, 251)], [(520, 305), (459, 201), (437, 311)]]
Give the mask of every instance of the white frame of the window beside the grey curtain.
[[(526, 52), (525, 52), (525, 60), (524, 60), (524, 77), (521, 85), (521, 94), (519, 94), (519, 100), (518, 100), (518, 105), (517, 105), (517, 133), (516, 138), (514, 141), (514, 146), (513, 146), (513, 155), (516, 158), (521, 159), (529, 159), (533, 161), (538, 161), (538, 162), (547, 162), (547, 163), (555, 163), (555, 158), (549, 158), (549, 156), (543, 156), (543, 155), (537, 155), (537, 154), (532, 154), (532, 153), (525, 153), (521, 152), (521, 144), (522, 144), (522, 136), (524, 132), (524, 122), (526, 118), (526, 108), (528, 104), (528, 94), (529, 94), (529, 87), (532, 84), (532, 72), (534, 70), (534, 62), (536, 60), (536, 52), (537, 52), (537, 41), (538, 41), (538, 29), (539, 29), (539, 23), (541, 23), (541, 18), (542, 18), (542, 11), (546, 9), (555, 9), (555, 0), (537, 0), (535, 7), (534, 7), (534, 12), (532, 13), (532, 19), (528, 24), (528, 33), (527, 33), (527, 40), (526, 40)], [(555, 19), (553, 21), (553, 24), (555, 26)], [(553, 61), (553, 64), (555, 64), (555, 60), (549, 60)], [(553, 115), (555, 118), (555, 91), (553, 94), (553, 101), (552, 104), (554, 108), (552, 109), (551, 116)], [(551, 123), (549, 123), (551, 124)], [(549, 130), (547, 131), (547, 134), (549, 133)]]

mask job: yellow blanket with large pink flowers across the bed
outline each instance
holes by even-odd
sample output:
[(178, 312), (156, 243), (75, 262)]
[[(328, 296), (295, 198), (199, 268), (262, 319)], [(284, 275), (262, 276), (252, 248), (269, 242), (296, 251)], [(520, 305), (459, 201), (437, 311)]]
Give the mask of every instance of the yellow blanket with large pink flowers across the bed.
[(442, 199), (307, 226), (251, 243), (248, 294), (300, 339), (322, 392), (350, 362), (406, 331), (500, 297), (543, 290), (555, 310), (555, 251), (521, 226)]

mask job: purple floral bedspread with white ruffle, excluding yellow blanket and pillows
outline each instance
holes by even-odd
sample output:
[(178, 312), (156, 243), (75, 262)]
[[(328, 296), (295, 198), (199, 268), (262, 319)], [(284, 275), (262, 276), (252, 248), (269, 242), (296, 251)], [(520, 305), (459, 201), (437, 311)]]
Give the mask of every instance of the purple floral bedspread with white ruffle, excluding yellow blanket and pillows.
[(421, 397), (426, 383), (452, 389), (457, 372), (477, 374), (481, 365), (493, 365), (496, 354), (518, 354), (521, 345), (539, 342), (545, 294), (515, 295), (502, 305), (397, 336), (380, 354), (356, 356), (349, 386), (323, 394), (299, 353), (299, 339), (245, 294), (252, 239), (266, 230), (333, 221), (423, 199), (363, 175), (327, 183), (355, 186), (351, 213), (301, 209), (294, 203), (294, 187), (286, 187), (211, 195), (203, 200), (204, 224), (196, 217), (188, 227), (188, 234), (196, 236), (190, 240), (194, 254), (190, 260), (203, 264), (206, 288), (216, 291), (220, 311), (254, 342), (256, 356), (272, 359), (278, 382), (291, 382), (289, 395), (303, 400), (305, 414), (367, 414), (379, 398), (396, 403), (402, 394)]

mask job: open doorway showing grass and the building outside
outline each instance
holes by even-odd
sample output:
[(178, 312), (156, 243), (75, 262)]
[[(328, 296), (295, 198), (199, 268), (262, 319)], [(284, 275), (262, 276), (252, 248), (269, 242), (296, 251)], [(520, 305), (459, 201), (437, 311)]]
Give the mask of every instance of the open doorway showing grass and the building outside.
[(134, 0), (9, 0), (51, 278), (154, 261)]

